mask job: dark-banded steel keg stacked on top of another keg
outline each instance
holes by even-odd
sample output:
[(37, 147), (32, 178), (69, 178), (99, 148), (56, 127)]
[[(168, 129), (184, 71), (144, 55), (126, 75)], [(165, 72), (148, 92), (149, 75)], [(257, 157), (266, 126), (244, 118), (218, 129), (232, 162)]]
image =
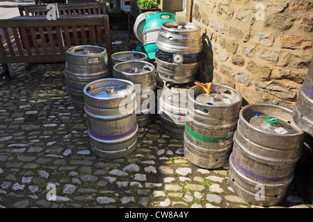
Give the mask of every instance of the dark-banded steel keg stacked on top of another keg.
[(190, 22), (165, 22), (155, 43), (159, 78), (173, 83), (189, 83), (200, 65), (201, 28)]

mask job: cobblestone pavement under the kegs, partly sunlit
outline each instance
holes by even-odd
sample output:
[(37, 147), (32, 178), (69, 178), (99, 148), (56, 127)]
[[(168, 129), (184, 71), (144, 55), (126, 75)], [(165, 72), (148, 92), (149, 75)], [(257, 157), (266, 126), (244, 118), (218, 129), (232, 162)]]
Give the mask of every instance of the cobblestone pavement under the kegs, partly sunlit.
[[(227, 167), (200, 169), (188, 162), (183, 140), (164, 135), (159, 119), (139, 128), (131, 155), (94, 155), (86, 115), (72, 106), (64, 69), (65, 63), (29, 71), (15, 64), (10, 71), (16, 77), (0, 80), (0, 207), (258, 207), (232, 191)], [(47, 199), (50, 184), (56, 200)], [(293, 182), (272, 207), (313, 205)]]

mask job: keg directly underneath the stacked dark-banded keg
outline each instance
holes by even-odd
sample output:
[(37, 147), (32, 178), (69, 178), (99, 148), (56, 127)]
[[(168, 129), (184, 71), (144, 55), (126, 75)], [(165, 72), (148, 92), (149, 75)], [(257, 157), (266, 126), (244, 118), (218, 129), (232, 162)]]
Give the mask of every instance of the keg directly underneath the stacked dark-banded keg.
[(159, 98), (159, 117), (163, 132), (175, 139), (184, 139), (188, 89), (192, 83), (166, 82)]

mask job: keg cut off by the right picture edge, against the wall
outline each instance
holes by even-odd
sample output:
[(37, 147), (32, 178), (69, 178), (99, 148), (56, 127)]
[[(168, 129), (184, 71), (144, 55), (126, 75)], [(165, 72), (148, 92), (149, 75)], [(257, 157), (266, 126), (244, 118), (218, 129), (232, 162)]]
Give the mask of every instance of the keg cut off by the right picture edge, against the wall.
[(295, 123), (313, 137), (313, 62), (298, 92), (296, 107), (292, 114)]

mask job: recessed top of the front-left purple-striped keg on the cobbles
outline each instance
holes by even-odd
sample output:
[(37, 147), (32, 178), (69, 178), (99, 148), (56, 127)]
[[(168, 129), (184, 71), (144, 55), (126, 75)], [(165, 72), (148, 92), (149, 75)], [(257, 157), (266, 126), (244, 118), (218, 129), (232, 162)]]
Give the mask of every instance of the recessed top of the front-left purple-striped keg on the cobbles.
[(95, 98), (124, 98), (132, 94), (134, 83), (129, 80), (120, 80), (116, 78), (105, 78), (95, 80), (84, 87), (84, 94)]

